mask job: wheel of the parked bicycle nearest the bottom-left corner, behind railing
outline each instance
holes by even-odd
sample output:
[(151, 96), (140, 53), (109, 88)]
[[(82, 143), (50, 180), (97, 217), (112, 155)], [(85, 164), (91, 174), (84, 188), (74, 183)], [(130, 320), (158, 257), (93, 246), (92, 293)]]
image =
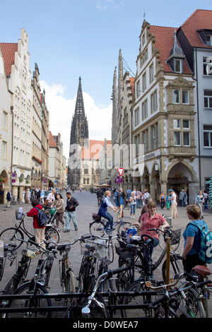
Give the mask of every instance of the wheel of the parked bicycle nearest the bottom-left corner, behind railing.
[[(29, 295), (31, 283), (25, 283), (18, 287), (14, 295)], [(17, 312), (11, 312), (7, 314), (9, 318), (51, 318), (52, 312), (47, 310), (48, 307), (52, 307), (52, 301), (50, 298), (42, 297), (38, 298), (36, 295), (45, 295), (47, 290), (39, 283), (36, 284), (35, 290), (33, 290), (34, 296), (30, 299), (19, 298), (11, 300), (9, 307), (15, 309)], [(47, 309), (45, 309), (47, 308)]]

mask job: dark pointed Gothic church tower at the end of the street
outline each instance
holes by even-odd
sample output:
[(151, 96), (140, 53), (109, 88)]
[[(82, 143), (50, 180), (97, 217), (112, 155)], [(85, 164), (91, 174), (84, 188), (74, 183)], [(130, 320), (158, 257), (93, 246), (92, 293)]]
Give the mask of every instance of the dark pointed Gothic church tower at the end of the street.
[(81, 165), (78, 154), (81, 153), (85, 141), (88, 141), (88, 120), (85, 114), (81, 77), (78, 83), (75, 112), (71, 121), (68, 179), (69, 186), (81, 186)]

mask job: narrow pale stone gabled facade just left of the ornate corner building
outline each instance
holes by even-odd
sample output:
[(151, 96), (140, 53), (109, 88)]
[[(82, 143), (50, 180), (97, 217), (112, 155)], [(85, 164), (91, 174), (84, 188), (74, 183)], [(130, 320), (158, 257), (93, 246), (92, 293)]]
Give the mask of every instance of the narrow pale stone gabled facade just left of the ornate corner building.
[(114, 69), (112, 86), (112, 186), (117, 182), (117, 168), (124, 168), (122, 188), (131, 186), (131, 108), (134, 100), (134, 77), (124, 73), (122, 50), (119, 49), (118, 77)]

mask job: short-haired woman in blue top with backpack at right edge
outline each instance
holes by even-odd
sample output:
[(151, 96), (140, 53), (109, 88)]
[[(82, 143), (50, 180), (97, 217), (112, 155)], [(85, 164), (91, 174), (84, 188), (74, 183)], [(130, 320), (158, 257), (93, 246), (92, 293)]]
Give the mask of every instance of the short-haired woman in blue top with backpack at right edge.
[[(201, 209), (196, 205), (186, 207), (187, 217), (190, 220), (187, 228), (183, 232), (184, 251), (182, 263), (187, 273), (192, 272), (196, 265), (206, 266), (211, 259), (211, 231), (208, 225), (201, 219)], [(208, 243), (208, 247), (206, 244)]]

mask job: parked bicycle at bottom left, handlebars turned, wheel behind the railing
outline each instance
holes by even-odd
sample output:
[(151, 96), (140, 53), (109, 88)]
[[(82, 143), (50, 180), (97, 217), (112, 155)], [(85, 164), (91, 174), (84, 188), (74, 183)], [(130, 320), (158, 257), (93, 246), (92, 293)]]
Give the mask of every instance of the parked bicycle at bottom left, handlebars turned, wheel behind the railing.
[[(21, 240), (21, 239), (20, 239)], [(47, 287), (49, 287), (49, 277), (52, 270), (52, 264), (54, 257), (56, 257), (57, 251), (55, 251), (55, 245), (51, 247), (51, 242), (46, 244), (46, 249), (42, 247), (42, 244), (37, 244), (31, 239), (28, 241), (23, 240), (24, 242), (30, 242), (34, 244), (37, 249), (42, 251), (42, 256), (37, 262), (37, 267), (33, 275), (32, 280), (26, 281), (20, 285), (13, 295), (13, 300), (10, 300), (8, 304), (8, 314), (6, 317), (9, 318), (51, 318), (52, 312), (48, 310), (49, 307), (52, 307), (52, 301), (49, 297), (39, 297), (37, 295), (48, 294)], [(42, 258), (45, 255), (45, 258)]]

